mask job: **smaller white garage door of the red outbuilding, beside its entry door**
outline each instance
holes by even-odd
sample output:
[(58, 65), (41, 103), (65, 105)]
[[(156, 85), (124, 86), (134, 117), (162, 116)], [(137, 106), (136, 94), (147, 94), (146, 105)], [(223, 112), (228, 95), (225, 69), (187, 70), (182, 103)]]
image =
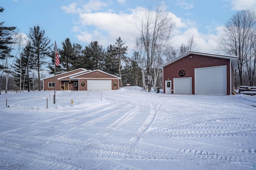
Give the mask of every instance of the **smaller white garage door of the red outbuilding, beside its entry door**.
[(192, 94), (192, 77), (173, 78), (174, 94)]

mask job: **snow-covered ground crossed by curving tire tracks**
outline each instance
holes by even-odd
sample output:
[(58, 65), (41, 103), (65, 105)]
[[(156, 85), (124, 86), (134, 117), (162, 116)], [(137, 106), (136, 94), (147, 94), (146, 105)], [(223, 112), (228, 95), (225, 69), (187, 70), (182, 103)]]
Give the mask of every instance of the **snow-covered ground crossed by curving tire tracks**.
[(158, 94), (130, 87), (56, 91), (53, 104), (53, 94), (0, 95), (1, 170), (256, 166), (256, 96)]

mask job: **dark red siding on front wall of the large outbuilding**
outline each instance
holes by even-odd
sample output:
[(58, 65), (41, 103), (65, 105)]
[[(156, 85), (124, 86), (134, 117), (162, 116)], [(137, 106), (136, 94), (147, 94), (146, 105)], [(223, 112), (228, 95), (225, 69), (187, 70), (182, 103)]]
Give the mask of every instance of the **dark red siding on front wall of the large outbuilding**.
[[(169, 78), (172, 80), (173, 89), (173, 78), (180, 78), (179, 71), (184, 70), (186, 72), (184, 77), (192, 77), (192, 94), (195, 94), (195, 82), (194, 82), (194, 68), (211, 67), (211, 66), (223, 66), (226, 65), (227, 72), (227, 94), (230, 94), (230, 60), (208, 57), (196, 54), (190, 54), (182, 59), (175, 61), (163, 68), (164, 81)], [(165, 93), (165, 86), (164, 86)], [(173, 93), (173, 92), (172, 92)]]

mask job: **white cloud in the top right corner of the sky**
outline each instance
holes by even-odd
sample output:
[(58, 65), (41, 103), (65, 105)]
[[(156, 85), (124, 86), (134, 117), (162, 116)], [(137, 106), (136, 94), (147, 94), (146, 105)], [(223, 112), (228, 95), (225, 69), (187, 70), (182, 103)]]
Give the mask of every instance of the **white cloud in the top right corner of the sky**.
[(227, 0), (231, 1), (232, 10), (256, 11), (256, 0)]

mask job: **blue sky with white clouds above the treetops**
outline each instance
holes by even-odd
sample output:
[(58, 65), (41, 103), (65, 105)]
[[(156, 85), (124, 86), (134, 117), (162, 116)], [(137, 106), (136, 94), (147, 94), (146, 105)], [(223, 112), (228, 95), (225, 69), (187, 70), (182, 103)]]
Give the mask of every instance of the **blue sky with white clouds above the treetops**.
[(0, 21), (24, 35), (39, 25), (58, 48), (66, 38), (83, 48), (91, 41), (106, 48), (121, 37), (130, 57), (146, 8), (159, 3), (176, 23), (172, 45), (178, 48), (193, 35), (197, 51), (206, 53), (216, 53), (222, 26), (232, 15), (256, 11), (256, 0), (2, 0)]

